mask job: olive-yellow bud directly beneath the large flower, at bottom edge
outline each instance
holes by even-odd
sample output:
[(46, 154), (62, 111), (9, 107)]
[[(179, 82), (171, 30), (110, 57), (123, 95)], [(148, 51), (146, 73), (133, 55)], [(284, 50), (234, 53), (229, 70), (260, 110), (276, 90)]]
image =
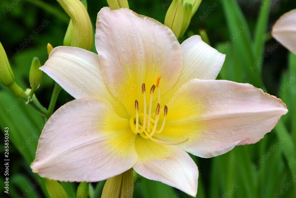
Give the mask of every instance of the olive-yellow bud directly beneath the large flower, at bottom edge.
[(101, 198), (121, 198), (122, 195), (125, 198), (133, 197), (133, 169), (107, 179)]

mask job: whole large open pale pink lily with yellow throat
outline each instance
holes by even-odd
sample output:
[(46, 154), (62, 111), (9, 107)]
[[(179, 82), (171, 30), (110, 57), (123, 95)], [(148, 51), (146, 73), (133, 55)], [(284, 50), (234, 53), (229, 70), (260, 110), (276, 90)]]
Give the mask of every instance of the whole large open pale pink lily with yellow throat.
[(98, 55), (56, 47), (41, 67), (76, 98), (44, 126), (31, 165), (42, 177), (95, 182), (132, 167), (196, 196), (187, 152), (208, 158), (256, 143), (287, 113), (261, 89), (215, 80), (225, 55), (200, 36), (180, 45), (129, 9), (102, 8), (95, 41)]

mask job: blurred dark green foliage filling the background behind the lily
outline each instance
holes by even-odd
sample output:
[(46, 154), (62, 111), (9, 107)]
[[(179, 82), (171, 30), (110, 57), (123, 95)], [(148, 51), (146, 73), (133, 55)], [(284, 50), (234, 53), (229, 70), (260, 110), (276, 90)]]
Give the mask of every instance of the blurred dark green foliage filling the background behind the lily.
[[(170, 2), (129, 0), (129, 6), (135, 12), (163, 23)], [(262, 2), (267, 3), (267, 7), (264, 4), (262, 7)], [(97, 13), (107, 6), (107, 1), (89, 0), (88, 5), (95, 27)], [(57, 1), (1, 0), (0, 8), (0, 41), (17, 83), (25, 90), (30, 84), (32, 58), (38, 57), (43, 65), (48, 58), (47, 43), (53, 47), (62, 45), (70, 17)], [(296, 179), (296, 84), (291, 84), (287, 89), (282, 88), (296, 75), (296, 56), (289, 54), (270, 36), (275, 21), (295, 8), (294, 0), (204, 0), (193, 16), (184, 38), (205, 30), (212, 46), (227, 54), (218, 78), (254, 84), (281, 98), (289, 109), (277, 127), (259, 143), (237, 146), (212, 159), (192, 156), (200, 171), (197, 197), (296, 197), (296, 185), (291, 182), (293, 178)], [(42, 26), (45, 21), (46, 26)], [(247, 28), (236, 38), (235, 33), (241, 25)], [(92, 51), (95, 52), (94, 46)], [(268, 57), (261, 63), (259, 61), (258, 67), (252, 72), (249, 68), (257, 66), (255, 63), (264, 53)], [(36, 96), (45, 107), (49, 105), (53, 87), (54, 81), (44, 74)], [(62, 91), (55, 109), (73, 99)], [(9, 196), (48, 197), (45, 179), (33, 174), (29, 167), (35, 157), (44, 119), (33, 108), (15, 98), (3, 85), (0, 85), (0, 114), (0, 130), (9, 126), (11, 131)], [(4, 147), (3, 137), (0, 148)], [(284, 142), (281, 139), (283, 137), (287, 138)], [(0, 149), (0, 153), (4, 155), (4, 149)], [(4, 170), (1, 165), (0, 187), (4, 189)], [(93, 197), (100, 196), (103, 184), (104, 181), (89, 186)], [(69, 197), (74, 197), (78, 183), (62, 182), (61, 185)], [(136, 177), (134, 186), (134, 197), (189, 197), (170, 186), (141, 177)], [(7, 195), (1, 190), (0, 196)]]

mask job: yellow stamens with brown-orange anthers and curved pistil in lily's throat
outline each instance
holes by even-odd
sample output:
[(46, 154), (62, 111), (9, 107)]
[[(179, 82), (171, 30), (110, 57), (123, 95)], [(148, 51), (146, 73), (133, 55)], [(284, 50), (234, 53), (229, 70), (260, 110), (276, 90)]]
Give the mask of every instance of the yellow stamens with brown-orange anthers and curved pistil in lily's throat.
[[(151, 89), (150, 89), (150, 103), (149, 103), (149, 112), (147, 114), (147, 108), (146, 108), (146, 89), (145, 89), (145, 83), (142, 84), (142, 93), (144, 96), (144, 113), (139, 113), (139, 101), (135, 101), (135, 108), (136, 108), (136, 116), (131, 117), (130, 119), (130, 126), (131, 130), (135, 134), (139, 134), (142, 138), (144, 139), (150, 139), (155, 143), (159, 144), (164, 144), (164, 145), (177, 145), (177, 144), (182, 144), (186, 142), (188, 139), (186, 138), (185, 140), (181, 140), (178, 142), (164, 142), (160, 140), (156, 140), (152, 138), (155, 133), (160, 133), (163, 131), (163, 128), (165, 126), (165, 119), (166, 115), (168, 114), (168, 107), (165, 105), (163, 111), (164, 111), (164, 118), (163, 118), (163, 123), (161, 125), (160, 130), (156, 130), (157, 127), (157, 122), (159, 121), (160, 117), (160, 87), (159, 87), (159, 80), (161, 76), (157, 77), (156, 80), (156, 85), (153, 84)], [(158, 104), (156, 107), (155, 111), (155, 120), (151, 118), (151, 109), (152, 109), (152, 99), (153, 99), (153, 93), (155, 91), (155, 88), (157, 87), (158, 89)]]

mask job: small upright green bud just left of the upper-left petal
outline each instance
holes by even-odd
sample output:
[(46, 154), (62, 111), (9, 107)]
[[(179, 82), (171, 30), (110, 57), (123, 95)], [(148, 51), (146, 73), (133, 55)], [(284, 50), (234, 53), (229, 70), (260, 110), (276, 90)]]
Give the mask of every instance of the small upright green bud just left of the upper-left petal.
[(41, 67), (39, 58), (34, 57), (32, 60), (30, 74), (29, 74), (29, 81), (30, 81), (32, 90), (36, 90), (38, 85), (41, 82), (42, 71), (39, 69), (39, 67)]

